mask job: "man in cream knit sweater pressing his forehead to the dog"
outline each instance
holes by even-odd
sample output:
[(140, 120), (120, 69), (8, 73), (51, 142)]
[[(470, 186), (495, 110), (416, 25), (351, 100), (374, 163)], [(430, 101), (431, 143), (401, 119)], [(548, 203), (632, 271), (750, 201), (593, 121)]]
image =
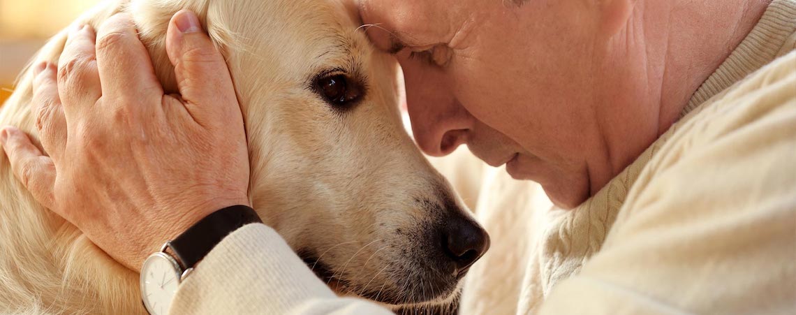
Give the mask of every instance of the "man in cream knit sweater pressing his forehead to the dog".
[[(525, 209), (543, 210), (534, 216), (543, 224), (525, 226), (540, 231), (509, 235), (525, 247), (513, 260), (523, 266), (516, 266), (516, 281), (491, 283), (513, 287), (479, 286), (506, 274), (485, 258), (470, 275), (462, 313), (794, 312), (796, 1), (363, 0), (360, 12), (373, 26), (373, 43), (404, 69), (408, 113), (423, 151), (441, 156), (466, 144), (488, 164), (505, 164), (511, 177), (538, 182), (556, 205)], [(124, 23), (105, 27), (134, 32)], [(225, 113), (218, 115), (225, 126), (240, 126), (223, 60), (199, 30), (186, 12), (170, 26), (182, 94)], [(101, 47), (98, 57), (115, 52), (146, 65), (146, 56), (134, 53), (142, 49), (123, 51)], [(64, 106), (96, 102), (78, 87), (102, 80), (105, 92), (107, 80), (123, 80), (112, 75), (151, 83), (150, 69), (101, 67), (96, 82), (75, 83), (57, 82), (56, 70), (43, 67), (37, 95)], [(133, 102), (141, 92), (121, 99)], [(65, 125), (59, 115), (42, 117), (45, 126)], [(53, 211), (113, 254), (141, 250), (125, 239), (162, 242), (245, 199), (245, 172), (212, 176), (245, 167), (244, 150), (229, 150), (228, 141), (240, 140), (242, 131), (202, 132), (187, 137), (184, 150), (154, 151), (162, 161), (207, 154), (217, 165), (174, 174), (110, 168), (119, 163), (102, 161), (123, 154), (108, 149), (90, 154), (100, 163), (81, 169), (89, 165), (80, 162), (87, 149), (68, 142), (77, 161), (53, 168), (20, 131), (6, 128), (0, 140), (33, 194), (82, 206), (80, 216)], [(122, 180), (59, 182), (100, 172)], [(201, 189), (169, 186), (189, 196), (180, 200), (153, 196), (151, 188), (166, 189), (162, 183), (182, 184), (169, 178), (206, 174), (227, 180)], [(68, 193), (74, 186), (119, 193), (89, 200)], [(484, 191), (499, 194), (500, 187), (485, 184)], [(505, 194), (484, 198), (479, 216), (482, 208), (492, 208), (487, 216), (507, 215), (482, 202), (505, 202)], [(161, 228), (161, 209), (189, 224)], [(127, 226), (129, 220), (138, 226)], [(295, 255), (270, 231), (249, 224), (228, 235), (180, 286), (171, 310), (388, 313), (334, 297), (309, 270), (294, 266)]]

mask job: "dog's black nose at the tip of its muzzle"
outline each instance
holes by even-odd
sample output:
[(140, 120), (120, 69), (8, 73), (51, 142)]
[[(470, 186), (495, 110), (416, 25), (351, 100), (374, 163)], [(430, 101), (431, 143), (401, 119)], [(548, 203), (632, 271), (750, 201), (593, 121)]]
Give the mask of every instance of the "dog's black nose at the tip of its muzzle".
[(453, 260), (458, 278), (490, 248), (490, 235), (466, 216), (454, 216), (443, 223), (442, 236), (443, 251)]

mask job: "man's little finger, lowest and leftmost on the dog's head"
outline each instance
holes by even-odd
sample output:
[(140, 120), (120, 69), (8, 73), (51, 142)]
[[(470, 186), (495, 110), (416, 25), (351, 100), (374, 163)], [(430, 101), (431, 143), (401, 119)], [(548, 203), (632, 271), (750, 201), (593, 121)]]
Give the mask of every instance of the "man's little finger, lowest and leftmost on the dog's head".
[(30, 142), (28, 135), (16, 128), (6, 127), (0, 130), (0, 144), (8, 155), (14, 176), (39, 203), (57, 212), (53, 198), (56, 177), (53, 160), (42, 155)]

